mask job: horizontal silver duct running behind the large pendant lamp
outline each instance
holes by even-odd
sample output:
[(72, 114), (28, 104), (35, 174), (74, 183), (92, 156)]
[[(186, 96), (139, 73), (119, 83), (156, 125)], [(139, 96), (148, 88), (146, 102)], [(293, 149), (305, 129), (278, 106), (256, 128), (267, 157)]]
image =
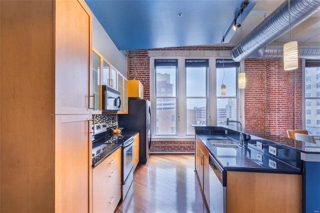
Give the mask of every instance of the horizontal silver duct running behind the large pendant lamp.
[[(284, 42), (274, 42), (254, 52), (249, 58), (281, 58)], [(298, 42), (298, 57), (305, 59), (320, 58), (320, 42)]]

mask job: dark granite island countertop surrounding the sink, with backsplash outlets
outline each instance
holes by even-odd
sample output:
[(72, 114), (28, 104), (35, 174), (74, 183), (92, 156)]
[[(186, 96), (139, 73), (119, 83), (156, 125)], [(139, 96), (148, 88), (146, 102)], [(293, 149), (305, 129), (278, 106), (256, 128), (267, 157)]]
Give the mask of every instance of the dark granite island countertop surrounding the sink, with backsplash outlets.
[[(212, 145), (208, 138), (212, 139), (234, 139), (223, 134), (196, 134), (208, 150), (213, 154), (216, 160), (227, 171), (254, 171), (254, 172), (271, 172), (271, 173), (293, 173), (300, 174), (300, 169), (291, 166), (275, 157), (259, 152), (250, 146), (244, 145), (244, 148), (226, 148)], [(264, 158), (259, 161), (256, 153), (259, 152)], [(269, 159), (276, 162), (276, 168), (269, 166)]]

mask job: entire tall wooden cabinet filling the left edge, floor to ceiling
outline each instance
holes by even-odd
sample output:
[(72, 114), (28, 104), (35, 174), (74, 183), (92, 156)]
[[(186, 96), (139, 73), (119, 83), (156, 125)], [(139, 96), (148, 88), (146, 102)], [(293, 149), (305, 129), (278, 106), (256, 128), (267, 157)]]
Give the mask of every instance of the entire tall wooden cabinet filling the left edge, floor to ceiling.
[(81, 0), (0, 9), (0, 212), (91, 212), (90, 10)]

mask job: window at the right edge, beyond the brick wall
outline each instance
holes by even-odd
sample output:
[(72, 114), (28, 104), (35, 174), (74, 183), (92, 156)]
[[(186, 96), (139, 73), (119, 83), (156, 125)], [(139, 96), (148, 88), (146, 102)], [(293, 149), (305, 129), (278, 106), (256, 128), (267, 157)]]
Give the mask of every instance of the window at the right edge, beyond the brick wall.
[[(307, 75), (306, 75), (307, 74)], [(305, 60), (305, 88), (307, 89), (310, 84), (310, 90), (305, 93), (305, 114), (304, 114), (304, 127), (312, 134), (320, 134), (320, 82), (316, 82), (315, 79), (320, 79), (320, 60)], [(317, 108), (316, 108), (317, 107)]]

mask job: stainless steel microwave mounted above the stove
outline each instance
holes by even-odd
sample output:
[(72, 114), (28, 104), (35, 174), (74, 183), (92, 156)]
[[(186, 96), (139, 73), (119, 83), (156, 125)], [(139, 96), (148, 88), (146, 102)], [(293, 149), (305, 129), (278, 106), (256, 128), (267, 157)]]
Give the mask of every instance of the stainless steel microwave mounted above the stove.
[(121, 93), (107, 85), (102, 85), (102, 111), (121, 109)]

